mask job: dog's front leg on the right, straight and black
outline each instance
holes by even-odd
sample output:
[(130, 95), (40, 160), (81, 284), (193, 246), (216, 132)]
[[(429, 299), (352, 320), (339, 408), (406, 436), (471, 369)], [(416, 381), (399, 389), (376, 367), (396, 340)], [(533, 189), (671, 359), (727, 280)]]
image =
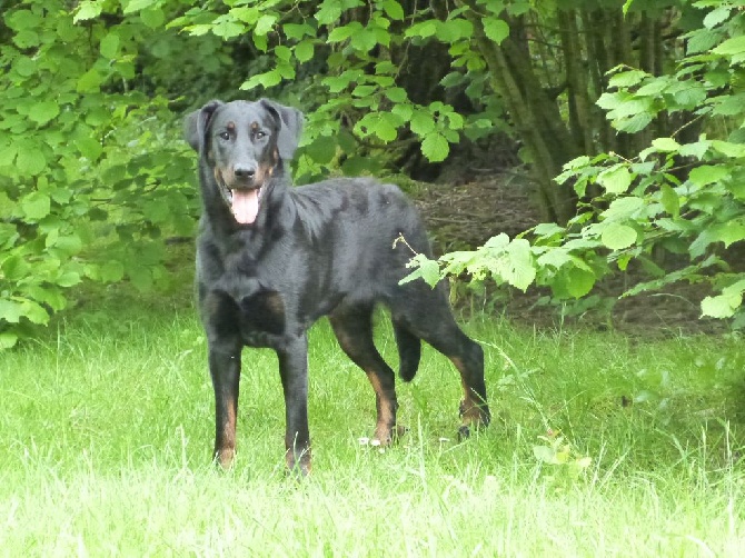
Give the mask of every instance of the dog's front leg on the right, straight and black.
[(285, 450), (290, 471), (310, 472), (310, 434), (308, 431), (308, 338), (292, 338), (279, 357), (279, 375), (285, 391)]

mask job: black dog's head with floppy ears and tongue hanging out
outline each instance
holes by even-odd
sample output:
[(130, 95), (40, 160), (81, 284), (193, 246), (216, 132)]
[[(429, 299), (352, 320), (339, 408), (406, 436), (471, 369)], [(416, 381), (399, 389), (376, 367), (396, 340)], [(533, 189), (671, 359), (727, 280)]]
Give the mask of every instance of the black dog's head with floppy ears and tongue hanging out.
[(252, 225), (270, 179), (298, 147), (302, 113), (274, 101), (210, 101), (191, 112), (185, 136), (215, 173), (236, 221)]

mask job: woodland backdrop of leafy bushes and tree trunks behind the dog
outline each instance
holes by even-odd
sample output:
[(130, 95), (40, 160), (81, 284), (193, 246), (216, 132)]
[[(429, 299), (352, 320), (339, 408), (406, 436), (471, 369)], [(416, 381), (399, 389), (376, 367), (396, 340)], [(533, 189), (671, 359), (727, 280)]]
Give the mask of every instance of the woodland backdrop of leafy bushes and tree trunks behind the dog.
[(1, 13), (0, 347), (81, 281), (167, 283), (169, 242), (199, 212), (183, 114), (265, 96), (307, 116), (297, 183), (410, 185), (485, 160), (528, 177), (543, 225), (509, 238), (495, 212), (484, 246), (417, 257), (413, 278), (563, 301), (633, 271), (627, 295), (701, 283), (704, 316), (743, 323), (742, 2), (4, 0)]

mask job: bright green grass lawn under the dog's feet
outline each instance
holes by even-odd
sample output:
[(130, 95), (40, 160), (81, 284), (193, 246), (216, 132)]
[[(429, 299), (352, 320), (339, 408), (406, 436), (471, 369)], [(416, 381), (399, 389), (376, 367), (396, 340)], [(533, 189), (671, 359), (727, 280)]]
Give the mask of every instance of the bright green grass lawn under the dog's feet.
[[(471, 319), (495, 412), (458, 444), (459, 380), (426, 349), (399, 386), (410, 430), (360, 445), (372, 390), (310, 335), (314, 474), (284, 470), (276, 358), (244, 353), (238, 460), (209, 466), (195, 312), (89, 302), (0, 355), (0, 556), (736, 556), (745, 549), (736, 337), (645, 341)], [(111, 299), (116, 300), (116, 299)], [(142, 310), (145, 308), (145, 310)], [(378, 346), (396, 362), (385, 316)], [(559, 431), (565, 465), (534, 446)], [(592, 458), (587, 467), (579, 459)], [(574, 469), (573, 469), (574, 467)], [(576, 474), (576, 475), (575, 475)]]

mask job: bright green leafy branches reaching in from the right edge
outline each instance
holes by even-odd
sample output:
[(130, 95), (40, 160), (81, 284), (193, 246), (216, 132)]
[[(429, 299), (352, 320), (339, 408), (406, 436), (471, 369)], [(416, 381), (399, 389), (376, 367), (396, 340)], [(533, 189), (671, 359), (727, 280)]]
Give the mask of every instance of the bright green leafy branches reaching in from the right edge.
[[(687, 56), (677, 70), (654, 77), (615, 68), (598, 104), (620, 132), (685, 112), (688, 122), (704, 120), (708, 133), (685, 140), (685, 123), (674, 137), (653, 139), (633, 160), (616, 153), (578, 157), (556, 178), (572, 183), (582, 200), (566, 227), (536, 227), (524, 235), (532, 245), (500, 235), (475, 251), (441, 257), (439, 276), (429, 266), (426, 277), (418, 269), (410, 277), (433, 285), (466, 271), (522, 290), (534, 282), (548, 286), (563, 299), (587, 295), (597, 280), (636, 261), (650, 277), (626, 295), (682, 280), (707, 282), (718, 293), (704, 299), (702, 315), (734, 316), (736, 327), (745, 326), (745, 273), (727, 252), (745, 240), (745, 14), (726, 1), (694, 6), (713, 10), (703, 28), (685, 37)], [(590, 191), (598, 195), (589, 198)], [(689, 263), (666, 273), (656, 263), (660, 251), (684, 255)]]

